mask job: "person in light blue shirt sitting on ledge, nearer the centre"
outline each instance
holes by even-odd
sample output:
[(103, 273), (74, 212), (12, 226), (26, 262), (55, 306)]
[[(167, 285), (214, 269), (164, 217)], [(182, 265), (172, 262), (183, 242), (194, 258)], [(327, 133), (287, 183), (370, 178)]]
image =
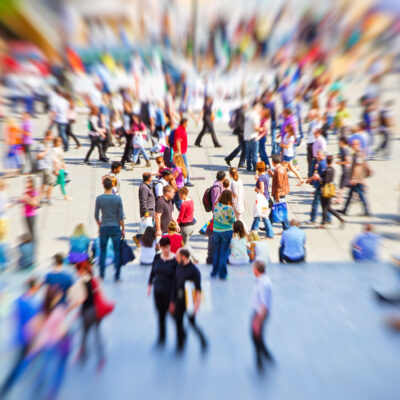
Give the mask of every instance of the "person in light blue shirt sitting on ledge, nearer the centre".
[(306, 260), (306, 234), (299, 228), (299, 221), (292, 219), (290, 228), (282, 233), (279, 247), (280, 263), (300, 263)]

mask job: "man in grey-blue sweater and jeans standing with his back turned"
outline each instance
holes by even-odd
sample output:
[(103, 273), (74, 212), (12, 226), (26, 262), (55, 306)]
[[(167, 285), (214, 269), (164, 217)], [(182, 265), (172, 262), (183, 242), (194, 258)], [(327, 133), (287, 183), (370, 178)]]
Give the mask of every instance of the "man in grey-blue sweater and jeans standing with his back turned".
[(100, 277), (102, 279), (105, 277), (107, 243), (111, 238), (114, 248), (114, 280), (118, 282), (121, 274), (121, 237), (125, 237), (124, 208), (121, 197), (112, 192), (110, 178), (104, 179), (103, 187), (104, 194), (97, 196), (94, 212), (95, 220), (100, 229)]

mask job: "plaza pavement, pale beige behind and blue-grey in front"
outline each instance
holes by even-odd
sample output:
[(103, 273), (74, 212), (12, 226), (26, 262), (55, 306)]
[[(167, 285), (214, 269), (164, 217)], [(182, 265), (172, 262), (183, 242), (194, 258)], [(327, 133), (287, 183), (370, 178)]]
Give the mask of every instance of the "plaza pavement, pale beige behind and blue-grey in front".
[[(385, 82), (388, 91), (390, 85), (391, 81)], [(387, 96), (398, 96), (397, 93), (390, 92)], [(356, 120), (359, 110), (353, 107), (351, 111)], [(398, 124), (399, 117), (396, 115)], [(42, 136), (47, 124), (44, 116), (34, 120), (37, 138)], [(211, 137), (206, 135), (204, 147), (195, 148), (192, 145), (200, 128), (193, 123), (189, 126), (189, 172), (195, 183), (190, 195), (195, 201), (196, 231), (211, 217), (201, 205), (203, 193), (212, 185), (218, 170), (227, 171), (223, 159), (237, 143), (227, 125), (217, 123), (216, 130), (223, 147), (214, 149)], [(54, 253), (68, 251), (68, 237), (78, 223), (86, 225), (91, 237), (97, 236), (94, 200), (102, 193), (101, 177), (107, 173), (109, 165), (83, 165), (88, 149), (84, 116), (80, 116), (74, 130), (83, 146), (78, 150), (71, 143), (71, 150), (66, 154), (67, 169), (72, 178), (67, 190), (72, 200), (62, 200), (60, 189), (56, 187), (54, 205), (43, 206), (40, 210), (38, 274), (47, 270)], [(337, 153), (336, 138), (330, 139), (329, 151)], [(121, 148), (114, 147), (108, 155), (111, 160), (119, 160), (121, 153)], [(289, 217), (297, 218), (307, 234), (308, 263), (295, 267), (277, 264), (282, 228), (275, 224), (275, 237), (268, 241), (271, 253), (268, 274), (273, 281), (274, 298), (266, 337), (277, 363), (268, 368), (264, 376), (256, 373), (249, 337), (254, 284), (249, 266), (229, 267), (227, 282), (211, 283), (213, 310), (199, 315), (199, 324), (210, 343), (208, 353), (202, 355), (196, 338), (189, 335), (187, 352), (177, 358), (172, 321), (168, 326), (167, 348), (164, 351), (154, 348), (155, 314), (152, 299), (146, 297), (149, 270), (134, 263), (124, 268), (121, 285), (112, 283), (111, 271), (105, 281), (108, 296), (117, 303), (115, 312), (101, 327), (107, 352), (105, 368), (96, 374), (94, 356), (83, 369), (76, 366), (71, 357), (60, 398), (398, 398), (400, 338), (384, 323), (386, 316), (395, 310), (376, 304), (371, 288), (390, 290), (397, 282), (390, 261), (391, 255), (398, 252), (400, 240), (399, 154), (397, 131), (393, 140), (393, 159), (371, 163), (373, 176), (368, 180), (367, 197), (372, 217), (358, 217), (362, 208), (361, 204), (355, 203), (346, 217), (344, 230), (339, 228), (336, 220), (325, 230), (304, 225), (311, 211), (312, 188), (309, 185), (297, 187), (296, 180), (290, 179)], [(305, 176), (305, 147), (299, 148), (298, 155), (300, 171)], [(93, 159), (96, 158), (94, 152)], [(156, 169), (154, 161), (152, 168)], [(138, 185), (144, 171), (144, 167), (139, 167), (120, 175), (129, 240), (138, 230)], [(244, 219), (250, 227), (255, 200), (254, 174), (245, 170), (239, 170), (239, 174), (246, 191)], [(10, 196), (19, 196), (22, 178), (8, 182)], [(9, 217), (10, 244), (13, 246), (24, 231), (19, 206), (10, 210)], [(350, 242), (366, 222), (374, 224), (384, 239), (382, 262), (357, 265), (351, 260)], [(204, 265), (207, 239), (195, 235), (192, 242), (200, 260), (202, 277), (207, 279), (210, 270), (210, 266)], [(130, 244), (133, 245), (131, 240)], [(26, 274), (14, 272), (0, 275), (0, 287), (7, 288), (8, 304), (18, 294), (25, 277)], [(12, 357), (7, 350), (11, 329), (6, 314), (3, 312), (1, 317), (0, 312), (0, 332), (3, 333), (0, 335), (0, 381)], [(29, 398), (27, 387), (27, 382), (21, 383), (13, 398)]]

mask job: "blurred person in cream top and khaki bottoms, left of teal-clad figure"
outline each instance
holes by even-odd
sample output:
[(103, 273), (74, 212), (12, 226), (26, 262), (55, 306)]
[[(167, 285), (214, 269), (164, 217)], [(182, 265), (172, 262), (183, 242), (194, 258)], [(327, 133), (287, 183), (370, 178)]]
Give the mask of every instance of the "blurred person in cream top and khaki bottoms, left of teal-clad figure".
[(40, 189), (40, 202), (53, 204), (51, 199), (51, 193), (53, 191), (53, 134), (51, 131), (46, 131), (42, 143), (38, 146), (38, 163), (37, 170), (38, 174), (42, 179), (42, 185)]

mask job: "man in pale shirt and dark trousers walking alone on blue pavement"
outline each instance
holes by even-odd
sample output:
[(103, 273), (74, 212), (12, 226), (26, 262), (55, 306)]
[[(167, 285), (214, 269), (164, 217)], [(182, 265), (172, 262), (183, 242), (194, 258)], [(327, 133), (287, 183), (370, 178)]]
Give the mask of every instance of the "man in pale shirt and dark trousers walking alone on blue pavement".
[(263, 358), (269, 362), (274, 359), (263, 340), (264, 323), (271, 310), (272, 283), (265, 274), (265, 262), (256, 260), (253, 263), (253, 273), (257, 278), (253, 297), (253, 317), (251, 320), (251, 332), (256, 350), (257, 368), (264, 370)]

